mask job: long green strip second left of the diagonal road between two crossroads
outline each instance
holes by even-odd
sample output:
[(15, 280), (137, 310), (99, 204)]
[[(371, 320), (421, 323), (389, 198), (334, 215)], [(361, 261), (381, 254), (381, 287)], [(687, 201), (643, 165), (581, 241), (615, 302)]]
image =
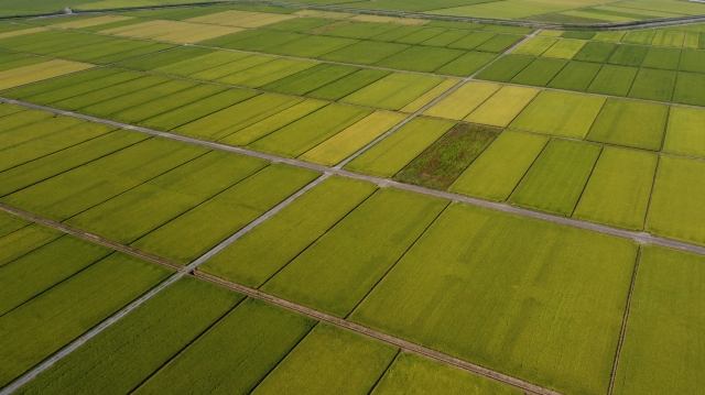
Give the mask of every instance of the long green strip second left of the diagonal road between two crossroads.
[(129, 244), (267, 165), (265, 161), (212, 151), (66, 223)]

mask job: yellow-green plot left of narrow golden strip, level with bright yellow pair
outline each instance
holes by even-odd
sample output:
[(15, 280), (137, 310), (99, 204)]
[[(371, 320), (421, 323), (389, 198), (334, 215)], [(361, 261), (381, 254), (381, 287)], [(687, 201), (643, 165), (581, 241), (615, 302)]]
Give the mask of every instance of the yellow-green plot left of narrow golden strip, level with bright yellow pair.
[(340, 101), (400, 110), (443, 81), (441, 77), (394, 73), (346, 96)]

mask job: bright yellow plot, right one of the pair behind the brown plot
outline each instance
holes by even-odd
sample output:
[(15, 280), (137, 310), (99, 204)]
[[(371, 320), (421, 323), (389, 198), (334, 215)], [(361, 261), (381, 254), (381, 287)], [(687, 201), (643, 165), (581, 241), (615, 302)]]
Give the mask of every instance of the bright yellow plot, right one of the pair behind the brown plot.
[(505, 128), (539, 95), (541, 90), (505, 86), (465, 117), (464, 121)]

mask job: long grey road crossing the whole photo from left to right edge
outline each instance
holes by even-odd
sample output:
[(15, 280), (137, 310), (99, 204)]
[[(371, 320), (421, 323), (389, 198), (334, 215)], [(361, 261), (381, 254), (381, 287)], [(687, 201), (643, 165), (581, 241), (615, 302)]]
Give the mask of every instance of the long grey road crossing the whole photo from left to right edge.
[[(697, 245), (697, 244), (692, 244), (692, 243), (687, 243), (687, 242), (683, 242), (683, 241), (666, 239), (666, 238), (662, 238), (662, 237), (658, 237), (658, 235), (652, 235), (652, 234), (650, 234), (648, 232), (636, 232), (636, 231), (631, 231), (631, 230), (609, 227), (609, 226), (606, 226), (606, 224), (599, 224), (599, 223), (577, 220), (577, 219), (573, 219), (573, 218), (551, 215), (551, 213), (546, 213), (546, 212), (542, 212), (542, 211), (534, 211), (534, 210), (530, 210), (530, 209), (525, 209), (525, 208), (521, 208), (521, 207), (517, 207), (517, 206), (512, 206), (512, 205), (508, 205), (508, 204), (503, 204), (503, 202), (482, 200), (482, 199), (473, 198), (473, 197), (464, 196), (464, 195), (458, 195), (458, 194), (454, 194), (454, 193), (449, 193), (449, 191), (445, 191), (445, 190), (436, 190), (436, 189), (424, 188), (424, 187), (420, 187), (420, 186), (415, 186), (415, 185), (411, 185), (411, 184), (403, 184), (403, 183), (394, 182), (394, 180), (388, 179), (388, 178), (381, 178), (381, 177), (377, 177), (377, 176), (365, 175), (365, 174), (360, 174), (360, 173), (354, 173), (354, 172), (346, 171), (346, 169), (343, 169), (343, 168), (328, 167), (328, 166), (318, 165), (318, 164), (314, 164), (314, 163), (310, 163), (310, 162), (304, 162), (304, 161), (296, 160), (296, 158), (288, 158), (288, 157), (282, 157), (282, 156), (276, 156), (276, 155), (273, 155), (273, 154), (267, 154), (267, 153), (262, 153), (262, 152), (257, 152), (257, 151), (252, 151), (252, 150), (248, 150), (248, 149), (243, 149), (243, 147), (225, 145), (225, 144), (220, 144), (220, 143), (216, 143), (216, 142), (209, 142), (209, 141), (204, 141), (204, 140), (193, 139), (193, 138), (177, 135), (177, 134), (167, 133), (167, 132), (160, 132), (160, 131), (155, 131), (155, 130), (151, 130), (151, 129), (147, 129), (147, 128), (134, 127), (134, 125), (131, 125), (131, 124), (126, 124), (126, 123), (121, 123), (121, 122), (105, 120), (105, 119), (100, 119), (100, 118), (96, 118), (96, 117), (83, 116), (83, 114), (74, 113), (74, 112), (70, 112), (70, 111), (57, 110), (57, 109), (53, 109), (53, 108), (50, 108), (50, 107), (32, 105), (32, 103), (18, 101), (18, 100), (13, 100), (13, 99), (6, 99), (6, 98), (0, 97), (0, 102), (7, 102), (7, 103), (10, 103), (10, 105), (23, 106), (23, 107), (33, 108), (33, 109), (36, 109), (36, 110), (48, 111), (48, 112), (53, 112), (53, 113), (57, 113), (57, 114), (62, 114), (62, 116), (66, 116), (66, 117), (80, 118), (80, 119), (84, 119), (84, 120), (87, 120), (87, 121), (116, 125), (116, 127), (119, 127), (121, 129), (135, 131), (135, 132), (141, 132), (141, 133), (145, 133), (145, 134), (150, 134), (150, 135), (154, 135), (154, 136), (160, 136), (160, 138), (164, 138), (164, 139), (181, 141), (181, 142), (189, 143), (189, 144), (203, 145), (203, 146), (210, 147), (210, 149), (214, 149), (214, 150), (227, 151), (227, 152), (232, 152), (232, 153), (236, 153), (236, 154), (241, 154), (241, 155), (247, 155), (247, 156), (252, 156), (252, 157), (259, 157), (259, 158), (262, 158), (262, 160), (265, 160), (265, 161), (270, 161), (272, 163), (284, 163), (284, 164), (288, 164), (288, 165), (302, 167), (302, 168), (308, 168), (308, 169), (321, 172), (321, 173), (324, 173), (324, 174), (338, 175), (338, 176), (341, 176), (341, 177), (360, 179), (360, 180), (369, 182), (369, 183), (372, 183), (372, 184), (377, 184), (379, 186), (390, 186), (390, 187), (394, 187), (394, 188), (398, 188), (398, 189), (415, 191), (415, 193), (419, 193), (419, 194), (429, 195), (429, 196), (435, 196), (435, 197), (440, 197), (440, 198), (452, 200), (452, 201), (459, 201), (459, 202), (464, 202), (464, 204), (471, 205), (471, 206), (482, 207), (482, 208), (491, 209), (491, 210), (495, 210), (495, 211), (508, 212), (508, 213), (512, 213), (512, 215), (517, 215), (517, 216), (521, 216), (521, 217), (528, 217), (528, 218), (533, 218), (533, 219), (543, 220), (543, 221), (547, 221), (547, 222), (564, 224), (564, 226), (568, 226), (568, 227), (573, 227), (573, 228), (578, 228), (578, 229), (589, 230), (589, 231), (594, 231), (594, 232), (598, 232), (598, 233), (609, 234), (609, 235), (614, 235), (614, 237), (618, 237), (618, 238), (622, 238), (622, 239), (630, 239), (630, 240), (633, 240), (634, 242), (640, 243), (640, 244), (655, 244), (655, 245), (661, 245), (661, 246), (665, 246), (665, 248), (670, 248), (670, 249), (692, 252), (692, 253), (698, 254), (698, 255), (705, 255), (705, 246), (701, 246), (701, 245)], [(2, 395), (2, 394), (0, 394), (0, 395)]]

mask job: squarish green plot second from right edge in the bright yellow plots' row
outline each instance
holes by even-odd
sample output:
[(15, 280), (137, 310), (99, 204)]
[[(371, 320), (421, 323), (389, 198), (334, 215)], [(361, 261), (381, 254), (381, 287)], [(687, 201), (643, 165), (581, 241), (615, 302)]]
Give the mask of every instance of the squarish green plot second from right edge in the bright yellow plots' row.
[(668, 106), (607, 99), (587, 140), (661, 151), (668, 117)]

